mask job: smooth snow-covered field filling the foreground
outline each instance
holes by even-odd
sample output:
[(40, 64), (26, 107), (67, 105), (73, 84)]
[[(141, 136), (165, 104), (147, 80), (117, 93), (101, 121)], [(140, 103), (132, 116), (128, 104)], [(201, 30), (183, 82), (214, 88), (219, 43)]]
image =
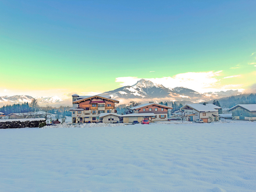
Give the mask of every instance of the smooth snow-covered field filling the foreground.
[(0, 191), (256, 191), (256, 122), (0, 129), (0, 145)]

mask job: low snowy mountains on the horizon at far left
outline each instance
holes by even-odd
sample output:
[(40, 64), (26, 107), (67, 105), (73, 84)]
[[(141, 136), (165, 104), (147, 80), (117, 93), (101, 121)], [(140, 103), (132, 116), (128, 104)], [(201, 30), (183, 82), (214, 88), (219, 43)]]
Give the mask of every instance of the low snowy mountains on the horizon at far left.
[[(29, 95), (14, 95), (14, 96), (0, 96), (0, 103), (3, 102), (5, 104), (21, 104), (24, 102), (31, 102), (33, 97)], [(45, 103), (56, 103), (56, 102), (62, 102), (62, 98), (58, 96), (52, 96), (52, 97), (35, 97), (37, 99), (38, 104), (45, 104)]]

